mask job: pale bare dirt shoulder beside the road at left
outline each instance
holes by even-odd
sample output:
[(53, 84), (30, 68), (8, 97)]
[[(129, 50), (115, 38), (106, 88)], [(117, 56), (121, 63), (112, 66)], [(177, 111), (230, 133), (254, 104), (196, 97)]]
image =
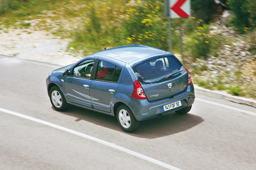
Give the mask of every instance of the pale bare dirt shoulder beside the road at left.
[(70, 39), (61, 39), (46, 31), (0, 30), (0, 54), (18, 58), (68, 65), (81, 56), (66, 52)]

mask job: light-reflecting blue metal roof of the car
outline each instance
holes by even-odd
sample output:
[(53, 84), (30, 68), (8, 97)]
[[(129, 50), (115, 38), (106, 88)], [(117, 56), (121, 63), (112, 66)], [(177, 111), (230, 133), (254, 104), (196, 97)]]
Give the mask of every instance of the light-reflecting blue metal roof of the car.
[(114, 58), (126, 63), (132, 63), (134, 61), (141, 60), (149, 56), (167, 53), (168, 52), (166, 51), (151, 46), (134, 44), (109, 48), (108, 50), (103, 50), (92, 55)]

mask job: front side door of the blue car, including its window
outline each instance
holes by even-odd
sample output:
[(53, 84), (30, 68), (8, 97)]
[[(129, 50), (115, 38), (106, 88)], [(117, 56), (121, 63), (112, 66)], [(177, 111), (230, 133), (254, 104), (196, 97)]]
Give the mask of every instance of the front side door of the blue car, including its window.
[(69, 102), (92, 107), (90, 86), (94, 63), (94, 59), (84, 60), (73, 68), (71, 76), (66, 77), (65, 89)]

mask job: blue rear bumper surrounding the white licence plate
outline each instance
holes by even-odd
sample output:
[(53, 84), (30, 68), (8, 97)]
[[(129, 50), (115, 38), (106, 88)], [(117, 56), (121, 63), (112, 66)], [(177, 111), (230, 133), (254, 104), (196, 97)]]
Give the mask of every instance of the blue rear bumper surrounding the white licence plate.
[[(174, 103), (177, 101), (181, 101), (182, 106), (177, 108), (163, 111), (162, 107), (164, 105)], [(138, 100), (138, 99), (131, 99), (129, 106), (130, 109), (133, 111), (134, 116), (137, 120), (147, 120), (157, 117), (157, 115), (161, 114), (168, 114), (172, 113), (176, 110), (182, 109), (184, 107), (190, 106), (195, 102), (195, 90), (193, 84), (187, 87), (187, 90), (173, 96), (173, 98), (166, 98), (159, 101), (150, 102), (148, 100)]]

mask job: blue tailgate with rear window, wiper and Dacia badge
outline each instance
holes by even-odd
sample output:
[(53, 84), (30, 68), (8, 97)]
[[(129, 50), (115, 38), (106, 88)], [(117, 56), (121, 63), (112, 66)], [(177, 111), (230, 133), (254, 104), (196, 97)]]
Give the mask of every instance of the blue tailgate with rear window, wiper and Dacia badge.
[(149, 101), (171, 98), (187, 88), (187, 71), (173, 55), (144, 61), (133, 70)]

